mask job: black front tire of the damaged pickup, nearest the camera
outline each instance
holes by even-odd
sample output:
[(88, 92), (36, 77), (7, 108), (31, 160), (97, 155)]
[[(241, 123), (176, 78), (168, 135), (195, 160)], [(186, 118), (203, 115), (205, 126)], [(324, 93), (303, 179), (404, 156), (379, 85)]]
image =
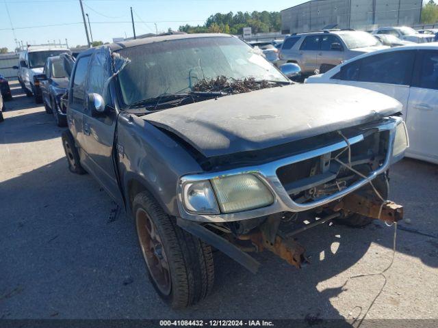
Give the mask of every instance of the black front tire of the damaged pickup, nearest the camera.
[[(209, 295), (214, 284), (214, 262), (211, 247), (179, 228), (175, 218), (164, 213), (164, 210), (147, 192), (139, 193), (134, 198), (133, 217), (136, 222), (140, 249), (142, 249), (148, 268), (149, 279), (158, 295), (175, 309), (186, 308)], [(156, 251), (155, 247), (153, 251), (148, 247), (148, 256), (148, 250), (142, 247), (142, 245), (148, 245), (144, 240), (142, 242), (142, 232), (148, 228), (142, 225), (143, 221), (140, 217), (143, 219), (146, 217), (155, 225), (154, 229), (159, 236), (164, 258), (168, 264), (166, 269), (170, 282), (169, 288), (166, 289), (168, 292), (162, 291), (162, 284), (157, 283), (156, 278), (151, 273), (149, 262), (151, 262), (151, 254), (155, 254)], [(149, 245), (150, 243), (149, 241)]]

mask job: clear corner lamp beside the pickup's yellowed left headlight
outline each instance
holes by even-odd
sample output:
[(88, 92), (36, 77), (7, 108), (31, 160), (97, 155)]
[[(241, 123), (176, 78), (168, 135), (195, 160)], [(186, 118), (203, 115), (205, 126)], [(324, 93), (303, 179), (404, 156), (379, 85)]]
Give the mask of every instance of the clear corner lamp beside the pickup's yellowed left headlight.
[(219, 214), (209, 180), (187, 182), (183, 186), (183, 202), (190, 212)]

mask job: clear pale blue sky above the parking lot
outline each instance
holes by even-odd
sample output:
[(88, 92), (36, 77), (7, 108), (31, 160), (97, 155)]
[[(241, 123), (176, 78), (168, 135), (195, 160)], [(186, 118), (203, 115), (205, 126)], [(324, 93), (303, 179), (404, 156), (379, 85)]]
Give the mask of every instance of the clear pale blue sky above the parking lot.
[[(132, 36), (129, 7), (134, 10), (136, 33), (167, 31), (179, 25), (203, 24), (210, 14), (253, 10), (280, 11), (305, 0), (83, 0), (89, 14), (94, 40)], [(23, 43), (47, 43), (68, 39), (70, 46), (86, 44), (79, 0), (0, 0), (0, 47), (15, 48), (15, 37)], [(118, 23), (107, 23), (118, 22)], [(41, 25), (60, 25), (46, 26)], [(23, 29), (22, 27), (34, 27)]]

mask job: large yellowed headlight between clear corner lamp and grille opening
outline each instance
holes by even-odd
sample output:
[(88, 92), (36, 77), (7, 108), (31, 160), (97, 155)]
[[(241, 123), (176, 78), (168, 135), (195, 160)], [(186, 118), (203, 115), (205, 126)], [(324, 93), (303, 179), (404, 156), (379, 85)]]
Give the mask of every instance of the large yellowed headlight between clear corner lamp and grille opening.
[(211, 179), (222, 213), (240, 212), (268, 206), (274, 196), (253, 174), (237, 174)]

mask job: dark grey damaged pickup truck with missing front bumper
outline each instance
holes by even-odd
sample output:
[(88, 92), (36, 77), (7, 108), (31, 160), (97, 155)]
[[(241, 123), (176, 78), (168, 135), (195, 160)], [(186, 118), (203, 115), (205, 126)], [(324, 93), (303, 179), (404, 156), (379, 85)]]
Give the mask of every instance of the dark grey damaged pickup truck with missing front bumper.
[(231, 36), (162, 35), (77, 57), (62, 143), (70, 171), (133, 217), (153, 286), (183, 308), (211, 291), (212, 247), (254, 273), (248, 251), (300, 267), (308, 228), (400, 220), (386, 198), (408, 143), (401, 108), (292, 83)]

